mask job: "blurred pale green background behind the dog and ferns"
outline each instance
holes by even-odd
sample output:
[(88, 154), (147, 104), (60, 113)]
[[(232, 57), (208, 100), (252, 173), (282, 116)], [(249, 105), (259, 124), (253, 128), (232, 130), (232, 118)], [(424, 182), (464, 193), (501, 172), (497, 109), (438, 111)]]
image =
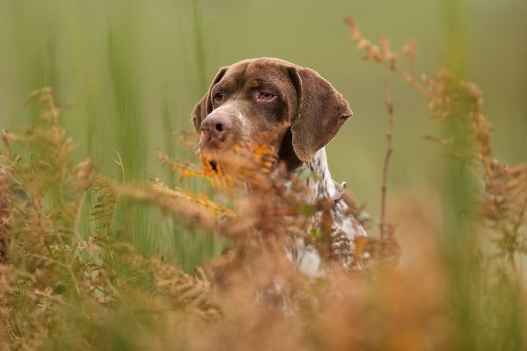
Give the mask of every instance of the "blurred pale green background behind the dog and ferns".
[[(279, 57), (318, 71), (348, 100), (354, 117), (327, 151), (334, 179), (378, 215), (387, 113), (383, 82), (395, 104), (389, 191), (427, 194), (445, 184), (441, 136), (423, 96), (390, 72), (362, 61), (344, 18), (353, 14), (363, 34), (418, 42), (416, 72), (446, 66), (484, 92), (484, 113), (495, 126), (496, 156), (517, 163), (527, 155), (527, 2), (524, 0), (399, 1), (8, 1), (0, 2), (0, 126), (21, 131), (35, 121), (28, 92), (55, 90), (73, 105), (63, 113), (76, 143), (75, 160), (89, 155), (101, 172), (121, 180), (167, 182), (155, 149), (196, 161), (170, 129), (191, 130), (190, 113), (219, 67), (260, 56)], [(402, 60), (401, 64), (404, 65)], [(183, 186), (198, 188), (193, 181)], [(91, 202), (90, 202), (91, 201)], [(82, 232), (93, 199), (87, 199)], [(187, 268), (221, 250), (222, 243), (181, 233), (177, 220), (156, 210), (121, 206), (118, 221), (132, 226), (145, 252), (161, 252)]]

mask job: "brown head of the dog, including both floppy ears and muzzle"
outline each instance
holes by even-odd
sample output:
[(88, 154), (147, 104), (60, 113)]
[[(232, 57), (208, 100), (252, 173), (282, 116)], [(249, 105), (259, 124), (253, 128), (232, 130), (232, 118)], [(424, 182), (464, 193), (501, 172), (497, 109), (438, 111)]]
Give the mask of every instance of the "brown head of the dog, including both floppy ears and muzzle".
[(264, 57), (223, 67), (194, 108), (192, 123), (202, 151), (223, 151), (231, 145), (226, 140), (250, 143), (253, 133), (289, 123), (271, 146), (292, 148), (291, 157), (309, 162), (351, 116), (346, 100), (318, 73)]

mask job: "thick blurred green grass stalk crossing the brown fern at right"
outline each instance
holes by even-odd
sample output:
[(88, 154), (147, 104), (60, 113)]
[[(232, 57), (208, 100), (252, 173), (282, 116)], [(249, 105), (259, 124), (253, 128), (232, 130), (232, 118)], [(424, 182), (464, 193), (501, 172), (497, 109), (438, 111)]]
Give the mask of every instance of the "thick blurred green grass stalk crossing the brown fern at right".
[[(443, 61), (448, 64), (457, 76), (466, 76), (465, 63), (466, 38), (463, 30), (462, 4), (448, 0), (443, 3), (444, 18), (444, 51)], [(472, 108), (469, 102), (460, 99), (457, 106), (458, 116), (443, 123), (444, 138), (457, 135), (457, 145), (454, 148), (466, 150), (470, 148), (468, 135), (463, 131), (464, 126), (460, 120), (465, 119)], [(478, 288), (481, 285), (480, 271), (477, 269), (474, 257), (476, 254), (477, 228), (476, 228), (476, 194), (479, 184), (473, 175), (473, 165), (465, 161), (445, 158), (443, 164), (443, 214), (444, 214), (444, 252), (445, 260), (451, 269), (452, 304), (457, 314), (457, 333), (460, 350), (477, 349), (476, 330), (479, 320), (475, 317), (475, 310), (479, 308), (477, 301), (481, 297)]]

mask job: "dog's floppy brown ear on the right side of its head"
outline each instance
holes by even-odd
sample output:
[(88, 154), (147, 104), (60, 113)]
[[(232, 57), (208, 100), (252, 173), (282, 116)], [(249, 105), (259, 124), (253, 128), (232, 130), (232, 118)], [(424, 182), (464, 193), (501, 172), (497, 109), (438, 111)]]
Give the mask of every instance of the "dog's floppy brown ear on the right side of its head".
[(342, 95), (317, 72), (293, 66), (288, 73), (298, 104), (298, 114), (291, 121), (293, 150), (302, 162), (309, 162), (353, 113)]

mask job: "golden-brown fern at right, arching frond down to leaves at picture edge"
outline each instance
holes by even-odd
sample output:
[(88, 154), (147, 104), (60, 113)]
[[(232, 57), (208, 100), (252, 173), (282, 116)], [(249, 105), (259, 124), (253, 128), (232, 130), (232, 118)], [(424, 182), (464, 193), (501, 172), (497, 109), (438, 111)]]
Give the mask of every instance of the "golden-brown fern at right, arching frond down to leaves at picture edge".
[[(353, 17), (347, 18), (347, 24), (357, 48), (366, 52), (365, 59), (387, 67), (414, 86), (428, 99), (433, 118), (454, 122), (455, 131), (450, 138), (428, 136), (427, 139), (445, 144), (447, 154), (457, 160), (481, 165), (485, 184), (481, 201), (482, 221), (499, 233), (493, 239), (500, 249), (497, 257), (509, 256), (512, 269), (516, 271), (514, 254), (525, 252), (522, 230), (527, 226), (527, 164), (509, 169), (508, 165), (495, 159), (491, 145), (492, 124), (481, 111), (483, 94), (477, 84), (460, 80), (444, 68), (438, 69), (432, 78), (422, 74), (422, 83), (419, 83), (413, 69), (417, 50), (414, 41), (404, 44), (402, 54), (394, 53), (386, 37), (380, 36), (377, 46), (360, 34)], [(407, 58), (409, 72), (398, 66), (402, 55)]]

